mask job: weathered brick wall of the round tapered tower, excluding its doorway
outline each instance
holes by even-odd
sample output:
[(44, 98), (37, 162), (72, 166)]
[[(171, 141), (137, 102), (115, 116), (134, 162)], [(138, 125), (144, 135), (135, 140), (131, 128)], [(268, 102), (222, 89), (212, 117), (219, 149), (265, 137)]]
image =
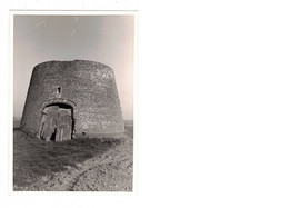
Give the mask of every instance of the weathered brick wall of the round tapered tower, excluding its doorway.
[(74, 60), (36, 66), (20, 128), (36, 136), (42, 109), (59, 102), (73, 108), (76, 137), (111, 137), (124, 132), (114, 73), (103, 63)]

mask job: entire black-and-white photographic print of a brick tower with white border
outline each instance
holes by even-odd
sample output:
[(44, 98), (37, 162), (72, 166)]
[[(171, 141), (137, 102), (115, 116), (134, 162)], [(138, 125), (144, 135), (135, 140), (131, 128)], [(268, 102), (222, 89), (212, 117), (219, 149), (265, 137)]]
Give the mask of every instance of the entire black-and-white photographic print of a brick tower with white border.
[(136, 12), (14, 12), (13, 191), (133, 191)]

